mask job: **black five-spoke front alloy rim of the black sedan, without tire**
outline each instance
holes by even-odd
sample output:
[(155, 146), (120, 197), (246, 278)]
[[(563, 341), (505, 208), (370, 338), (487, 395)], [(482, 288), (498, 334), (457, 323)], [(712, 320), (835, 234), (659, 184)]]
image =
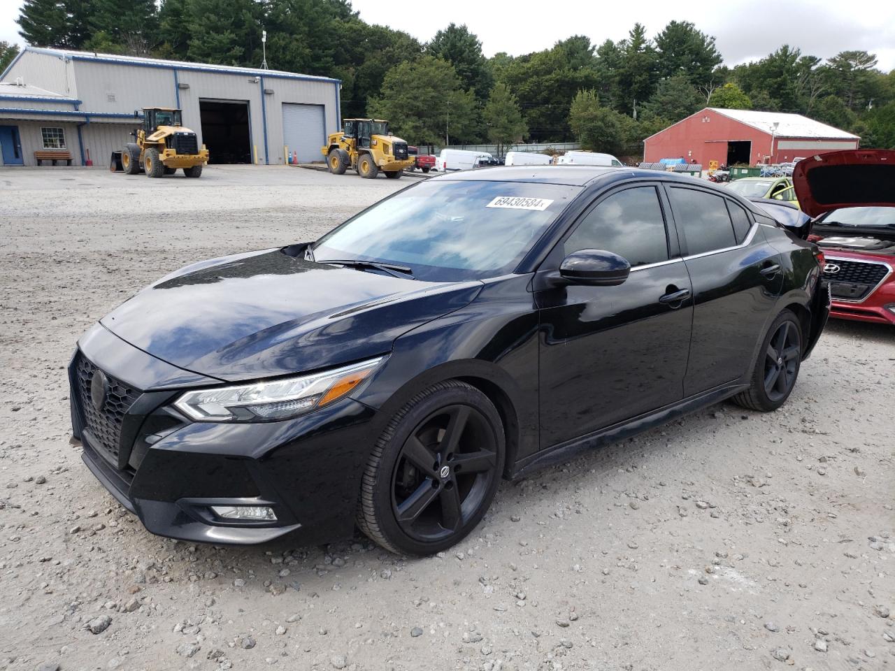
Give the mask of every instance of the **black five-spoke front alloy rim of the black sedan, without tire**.
[(437, 542), (475, 514), (497, 477), (488, 420), (469, 405), (448, 405), (422, 420), (392, 473), (392, 511), (411, 538)]

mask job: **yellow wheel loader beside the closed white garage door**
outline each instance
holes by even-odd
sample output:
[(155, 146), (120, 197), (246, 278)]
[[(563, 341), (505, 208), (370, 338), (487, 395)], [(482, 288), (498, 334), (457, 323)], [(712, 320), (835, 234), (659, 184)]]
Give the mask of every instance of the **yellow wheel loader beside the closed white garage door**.
[(407, 155), (407, 143), (388, 131), (381, 119), (343, 119), (343, 130), (327, 138), (320, 149), (327, 158), (329, 172), (344, 174), (349, 167), (365, 179), (375, 179), (381, 170), (386, 177), (400, 179), (405, 168), (413, 166)]

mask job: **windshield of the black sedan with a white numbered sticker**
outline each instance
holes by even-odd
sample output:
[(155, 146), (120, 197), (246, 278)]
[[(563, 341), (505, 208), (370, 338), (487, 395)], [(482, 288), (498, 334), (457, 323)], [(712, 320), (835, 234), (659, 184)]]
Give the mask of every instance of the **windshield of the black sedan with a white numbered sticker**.
[(324, 235), (313, 255), (398, 264), (435, 282), (505, 275), (580, 191), (540, 183), (418, 183)]

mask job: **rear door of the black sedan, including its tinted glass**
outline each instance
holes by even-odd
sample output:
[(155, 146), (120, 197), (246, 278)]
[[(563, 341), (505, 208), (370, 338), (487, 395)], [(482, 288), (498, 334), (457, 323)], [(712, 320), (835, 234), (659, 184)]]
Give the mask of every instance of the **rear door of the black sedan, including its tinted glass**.
[(684, 394), (742, 378), (783, 286), (779, 252), (736, 200), (689, 185), (666, 185), (693, 284), (693, 339)]

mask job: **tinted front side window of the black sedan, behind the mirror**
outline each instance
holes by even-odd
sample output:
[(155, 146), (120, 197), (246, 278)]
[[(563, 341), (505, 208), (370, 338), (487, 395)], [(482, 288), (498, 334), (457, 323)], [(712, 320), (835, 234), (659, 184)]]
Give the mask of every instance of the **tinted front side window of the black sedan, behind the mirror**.
[(655, 187), (618, 191), (593, 208), (563, 242), (566, 255), (578, 250), (612, 251), (632, 268), (668, 260), (665, 219)]

